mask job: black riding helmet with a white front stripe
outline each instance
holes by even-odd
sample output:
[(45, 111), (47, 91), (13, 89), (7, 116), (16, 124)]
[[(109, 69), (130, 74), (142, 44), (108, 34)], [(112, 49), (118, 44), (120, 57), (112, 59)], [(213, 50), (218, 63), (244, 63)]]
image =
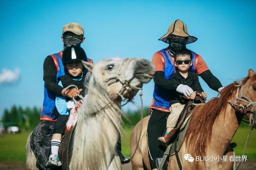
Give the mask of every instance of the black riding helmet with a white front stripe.
[(84, 49), (79, 46), (70, 46), (63, 51), (63, 64), (78, 62), (82, 60), (87, 61), (87, 56)]

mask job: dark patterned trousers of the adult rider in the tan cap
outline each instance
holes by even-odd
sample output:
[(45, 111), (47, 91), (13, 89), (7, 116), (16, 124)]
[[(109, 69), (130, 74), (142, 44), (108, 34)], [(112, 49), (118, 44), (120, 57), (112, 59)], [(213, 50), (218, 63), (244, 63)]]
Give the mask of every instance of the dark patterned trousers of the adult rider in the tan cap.
[(36, 158), (36, 167), (39, 170), (50, 170), (46, 168), (46, 163), (50, 156), (54, 128), (54, 121), (41, 121), (32, 132), (30, 147)]

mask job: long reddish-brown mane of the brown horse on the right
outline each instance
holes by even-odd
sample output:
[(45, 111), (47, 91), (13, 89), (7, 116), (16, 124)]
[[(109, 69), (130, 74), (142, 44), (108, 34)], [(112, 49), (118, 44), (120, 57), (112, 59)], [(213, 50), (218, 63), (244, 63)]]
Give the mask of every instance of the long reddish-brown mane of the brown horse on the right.
[[(245, 77), (242, 84), (249, 79)], [(212, 136), (212, 128), (214, 121), (220, 115), (221, 111), (227, 107), (228, 99), (237, 91), (237, 82), (226, 86), (221, 91), (221, 97), (213, 98), (204, 105), (197, 106), (193, 109), (191, 122), (186, 132), (185, 141), (188, 147), (194, 149), (195, 155), (203, 156)]]

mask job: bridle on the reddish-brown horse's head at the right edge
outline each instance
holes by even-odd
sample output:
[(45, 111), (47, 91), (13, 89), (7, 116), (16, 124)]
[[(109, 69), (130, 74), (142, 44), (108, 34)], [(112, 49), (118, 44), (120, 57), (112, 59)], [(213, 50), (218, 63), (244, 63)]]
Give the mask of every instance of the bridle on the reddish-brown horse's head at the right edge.
[[(238, 83), (238, 84), (234, 85), (237, 87), (235, 102), (228, 101), (228, 103), (235, 108), (235, 111), (242, 113), (242, 115), (250, 113), (249, 122), (250, 122), (250, 126), (252, 126), (253, 125), (253, 114), (256, 114), (256, 111), (255, 111), (256, 102), (253, 102), (249, 97), (243, 96), (244, 84), (241, 81), (236, 82), (236, 83)], [(241, 89), (240, 89), (240, 87), (241, 87)], [(239, 91), (240, 91), (240, 97), (238, 97)], [(242, 103), (239, 103), (241, 101), (248, 103), (248, 104), (243, 105)], [(251, 109), (249, 109), (250, 107), (251, 107)]]

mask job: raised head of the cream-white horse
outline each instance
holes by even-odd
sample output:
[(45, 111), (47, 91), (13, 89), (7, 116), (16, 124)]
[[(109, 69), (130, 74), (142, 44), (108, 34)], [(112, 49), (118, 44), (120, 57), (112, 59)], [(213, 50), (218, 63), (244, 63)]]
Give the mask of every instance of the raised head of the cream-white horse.
[(83, 64), (92, 71), (95, 85), (101, 86), (111, 97), (131, 99), (155, 73), (153, 64), (140, 58), (113, 58), (95, 65), (87, 62)]

